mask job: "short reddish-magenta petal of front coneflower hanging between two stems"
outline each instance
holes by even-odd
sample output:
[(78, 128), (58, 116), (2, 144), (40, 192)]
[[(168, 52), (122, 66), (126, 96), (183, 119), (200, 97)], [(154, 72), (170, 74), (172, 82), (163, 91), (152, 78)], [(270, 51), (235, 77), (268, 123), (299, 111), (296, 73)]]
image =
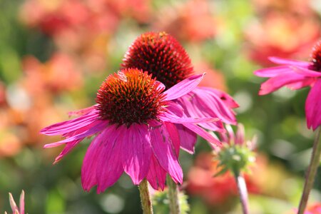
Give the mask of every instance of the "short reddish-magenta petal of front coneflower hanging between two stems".
[(147, 180), (151, 184), (152, 188), (158, 190), (158, 186), (161, 190), (165, 188), (166, 171), (159, 165), (155, 156), (152, 155), (151, 164), (149, 165), (149, 171), (147, 174)]

